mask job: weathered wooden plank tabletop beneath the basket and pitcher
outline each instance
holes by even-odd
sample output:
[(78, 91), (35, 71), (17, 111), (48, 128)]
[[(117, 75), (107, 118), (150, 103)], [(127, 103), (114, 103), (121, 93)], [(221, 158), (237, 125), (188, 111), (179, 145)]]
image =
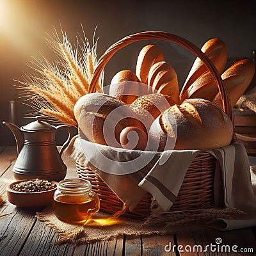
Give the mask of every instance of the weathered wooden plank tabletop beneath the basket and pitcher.
[[(0, 147), (0, 195), (4, 197), (6, 197), (6, 184), (14, 180), (12, 168), (16, 157), (15, 147)], [(67, 177), (76, 177), (74, 161), (67, 156), (64, 156), (63, 159), (68, 167)], [(7, 215), (3, 216), (4, 214)], [(172, 236), (136, 237), (133, 239), (123, 237), (122, 239), (75, 246), (70, 243), (55, 245), (58, 239), (57, 234), (45, 223), (35, 218), (35, 211), (19, 209), (6, 200), (6, 204), (0, 208), (0, 216), (1, 256), (256, 255), (255, 227), (226, 232), (207, 228), (195, 232), (179, 232)], [(224, 247), (221, 249), (222, 252), (214, 252), (214, 247), (210, 246), (216, 244), (218, 238), (222, 239), (221, 245), (226, 245), (226, 250), (229, 246), (231, 252), (225, 252)], [(168, 246), (170, 243), (175, 247), (170, 248)], [(196, 247), (193, 249), (193, 246), (197, 246), (198, 249)], [(200, 252), (200, 246), (206, 252)], [(237, 252), (232, 250), (232, 246), (235, 246), (233, 249)], [(186, 252), (189, 250), (192, 252)], [(244, 252), (239, 252), (239, 250)], [(245, 253), (246, 251), (247, 253)]]

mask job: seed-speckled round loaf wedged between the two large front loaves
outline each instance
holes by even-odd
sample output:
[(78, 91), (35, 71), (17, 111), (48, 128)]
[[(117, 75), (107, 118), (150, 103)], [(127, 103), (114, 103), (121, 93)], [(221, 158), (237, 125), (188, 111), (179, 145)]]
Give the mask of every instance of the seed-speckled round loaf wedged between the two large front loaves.
[(154, 122), (157, 116), (175, 104), (176, 102), (169, 95), (151, 93), (134, 100), (130, 108), (140, 118), (145, 127), (150, 129), (152, 122)]

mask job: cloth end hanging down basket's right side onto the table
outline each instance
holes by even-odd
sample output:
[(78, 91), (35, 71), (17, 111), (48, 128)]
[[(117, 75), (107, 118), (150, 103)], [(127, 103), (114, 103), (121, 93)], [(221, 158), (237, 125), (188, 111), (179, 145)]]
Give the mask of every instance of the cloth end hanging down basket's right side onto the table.
[(214, 181), (216, 205), (221, 205), (224, 201), (226, 207), (240, 209), (246, 214), (243, 220), (216, 219), (208, 225), (219, 230), (256, 226), (256, 174), (250, 170), (244, 146), (234, 143), (214, 150), (214, 154), (220, 163)]

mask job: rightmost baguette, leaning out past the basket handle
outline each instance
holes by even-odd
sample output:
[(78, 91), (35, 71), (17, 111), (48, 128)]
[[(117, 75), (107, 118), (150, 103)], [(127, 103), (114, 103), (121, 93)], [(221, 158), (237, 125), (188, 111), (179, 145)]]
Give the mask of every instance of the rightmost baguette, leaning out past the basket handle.
[[(239, 60), (222, 74), (221, 78), (232, 108), (250, 85), (254, 72), (255, 63), (252, 60)], [(217, 93), (212, 102), (223, 108), (220, 92)]]

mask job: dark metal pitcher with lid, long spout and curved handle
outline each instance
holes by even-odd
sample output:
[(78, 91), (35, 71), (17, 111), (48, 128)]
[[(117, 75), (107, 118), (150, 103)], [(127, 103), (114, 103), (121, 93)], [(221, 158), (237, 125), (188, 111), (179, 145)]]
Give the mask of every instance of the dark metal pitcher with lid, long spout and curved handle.
[[(17, 127), (10, 122), (3, 122), (10, 128), (17, 143), (18, 157), (13, 172), (15, 179), (45, 179), (60, 181), (67, 175), (67, 166), (61, 159), (63, 150), (72, 138), (72, 132), (67, 125), (57, 127), (42, 121), (41, 116), (36, 121)], [(56, 147), (55, 131), (65, 128), (68, 139), (61, 147)]]

